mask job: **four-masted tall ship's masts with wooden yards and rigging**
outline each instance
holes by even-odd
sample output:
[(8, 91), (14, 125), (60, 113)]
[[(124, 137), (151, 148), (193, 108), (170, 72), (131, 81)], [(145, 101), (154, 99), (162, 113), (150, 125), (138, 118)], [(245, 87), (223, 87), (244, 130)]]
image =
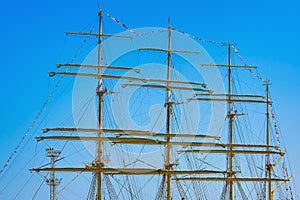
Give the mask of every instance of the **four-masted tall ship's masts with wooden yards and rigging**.
[[(104, 32), (104, 18), (126, 31)], [(80, 176), (89, 184), (70, 190), (93, 200), (295, 199), (270, 81), (236, 44), (192, 36), (170, 19), (167, 28), (134, 30), (102, 10), (98, 19), (96, 33), (67, 32), (96, 38), (86, 59), (49, 72), (75, 78), (73, 126), (36, 137), (50, 163), (30, 171), (43, 174), (50, 200), (76, 199), (64, 191)], [(212, 48), (225, 55), (216, 63)]]

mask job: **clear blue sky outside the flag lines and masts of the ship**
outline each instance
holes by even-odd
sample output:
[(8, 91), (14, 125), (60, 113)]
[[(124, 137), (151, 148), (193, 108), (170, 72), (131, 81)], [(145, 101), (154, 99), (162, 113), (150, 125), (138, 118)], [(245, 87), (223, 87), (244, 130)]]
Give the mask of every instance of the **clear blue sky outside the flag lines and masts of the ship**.
[[(2, 1), (0, 6), (0, 165), (8, 159), (49, 92), (48, 71), (61, 60), (66, 31), (97, 17), (96, 0)], [(199, 37), (237, 43), (249, 64), (271, 80), (296, 186), (300, 191), (300, 2), (298, 0), (101, 1), (132, 28), (178, 27)], [(65, 47), (68, 48), (68, 47)]]

